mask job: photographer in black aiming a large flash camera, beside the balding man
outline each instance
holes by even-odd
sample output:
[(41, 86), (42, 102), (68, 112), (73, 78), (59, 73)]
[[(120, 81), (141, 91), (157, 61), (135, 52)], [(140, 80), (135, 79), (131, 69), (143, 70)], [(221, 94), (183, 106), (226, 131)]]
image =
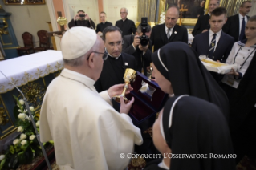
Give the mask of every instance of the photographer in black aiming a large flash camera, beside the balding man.
[[(143, 35), (144, 29), (144, 43), (146, 39), (148, 39), (148, 43), (146, 46), (141, 44), (140, 38)], [(151, 61), (151, 54), (152, 51), (148, 49), (151, 47), (152, 42), (150, 41), (150, 34), (151, 34), (151, 26), (148, 23), (145, 23), (145, 26), (140, 25), (137, 27), (136, 35), (125, 35), (123, 37), (124, 44), (123, 44), (123, 52), (128, 53), (129, 55), (133, 55), (136, 59), (136, 71), (139, 71), (147, 76), (147, 71), (150, 72), (150, 63)]]

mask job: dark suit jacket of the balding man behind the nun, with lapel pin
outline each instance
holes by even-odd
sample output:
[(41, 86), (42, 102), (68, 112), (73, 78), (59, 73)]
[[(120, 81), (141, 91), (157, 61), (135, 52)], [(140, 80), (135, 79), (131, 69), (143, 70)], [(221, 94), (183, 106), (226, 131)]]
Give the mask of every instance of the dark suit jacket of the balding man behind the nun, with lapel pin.
[(152, 28), (150, 39), (152, 41), (152, 45), (154, 46), (154, 51), (157, 51), (159, 48), (165, 46), (165, 44), (169, 42), (188, 43), (188, 31), (185, 27), (175, 25), (173, 28), (173, 33), (168, 39), (165, 31), (165, 23), (163, 23)]

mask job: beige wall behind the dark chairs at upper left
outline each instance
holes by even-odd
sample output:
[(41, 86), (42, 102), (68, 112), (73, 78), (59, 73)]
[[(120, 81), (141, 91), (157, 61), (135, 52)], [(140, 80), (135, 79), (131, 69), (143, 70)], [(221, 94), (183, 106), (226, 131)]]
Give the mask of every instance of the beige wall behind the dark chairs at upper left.
[(5, 5), (0, 1), (2, 8), (11, 13), (10, 22), (18, 41), (18, 45), (23, 47), (22, 34), (30, 32), (33, 35), (34, 46), (39, 47), (37, 31), (50, 31), (47, 22), (51, 22), (47, 4), (43, 5)]

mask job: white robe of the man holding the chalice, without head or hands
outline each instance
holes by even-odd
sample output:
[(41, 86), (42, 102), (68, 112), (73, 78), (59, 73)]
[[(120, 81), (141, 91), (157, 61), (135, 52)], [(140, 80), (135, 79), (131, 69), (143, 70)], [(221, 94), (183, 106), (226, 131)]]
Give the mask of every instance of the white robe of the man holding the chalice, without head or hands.
[[(142, 144), (140, 129), (115, 111), (108, 92), (94, 80), (64, 69), (47, 87), (40, 113), (40, 139), (54, 140), (57, 164), (75, 169), (124, 169), (127, 154)], [(124, 159), (120, 154), (124, 153)]]

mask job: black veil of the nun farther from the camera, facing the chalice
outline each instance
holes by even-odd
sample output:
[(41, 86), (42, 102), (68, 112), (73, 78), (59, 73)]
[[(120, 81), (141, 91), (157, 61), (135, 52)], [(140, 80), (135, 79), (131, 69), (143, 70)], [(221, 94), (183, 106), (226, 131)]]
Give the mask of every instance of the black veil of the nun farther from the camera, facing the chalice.
[(228, 120), (229, 102), (225, 92), (189, 45), (170, 42), (152, 54), (152, 62), (172, 83), (174, 95), (193, 95), (214, 103), (221, 108)]

